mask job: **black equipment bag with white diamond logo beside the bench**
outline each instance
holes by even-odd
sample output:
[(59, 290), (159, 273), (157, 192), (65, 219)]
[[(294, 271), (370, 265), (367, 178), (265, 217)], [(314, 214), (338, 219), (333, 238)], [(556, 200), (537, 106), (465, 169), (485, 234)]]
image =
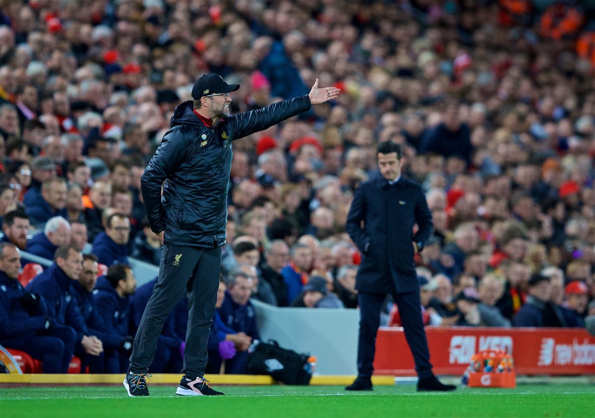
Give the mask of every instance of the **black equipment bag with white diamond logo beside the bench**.
[(286, 385), (308, 385), (312, 377), (307, 354), (279, 347), (277, 341), (259, 342), (246, 360), (250, 375), (270, 375)]

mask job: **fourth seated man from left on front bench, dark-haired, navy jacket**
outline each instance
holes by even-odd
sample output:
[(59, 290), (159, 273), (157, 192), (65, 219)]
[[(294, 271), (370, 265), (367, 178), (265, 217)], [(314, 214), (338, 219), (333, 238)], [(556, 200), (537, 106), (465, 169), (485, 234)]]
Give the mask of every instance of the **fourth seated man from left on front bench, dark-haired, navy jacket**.
[[(97, 279), (93, 291), (93, 298), (105, 325), (114, 334), (126, 339), (129, 335), (130, 295), (136, 290), (136, 279), (130, 266), (114, 264), (108, 269), (108, 274)], [(108, 364), (110, 373), (126, 369), (127, 357), (117, 356), (117, 362)]]

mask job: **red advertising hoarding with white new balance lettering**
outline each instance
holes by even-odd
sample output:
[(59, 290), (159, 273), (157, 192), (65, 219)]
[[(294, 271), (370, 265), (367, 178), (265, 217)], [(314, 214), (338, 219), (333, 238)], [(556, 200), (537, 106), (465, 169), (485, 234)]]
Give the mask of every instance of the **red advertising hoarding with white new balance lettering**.
[[(595, 374), (595, 337), (580, 328), (425, 328), (437, 375), (462, 375), (472, 354), (505, 350), (520, 375)], [(415, 376), (403, 328), (380, 328), (374, 370), (377, 375)]]

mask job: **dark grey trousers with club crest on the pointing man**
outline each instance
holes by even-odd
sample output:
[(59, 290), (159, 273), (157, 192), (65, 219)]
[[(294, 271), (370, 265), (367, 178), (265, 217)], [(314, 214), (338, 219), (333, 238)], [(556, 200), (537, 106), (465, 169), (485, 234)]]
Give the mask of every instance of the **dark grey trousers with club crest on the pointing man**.
[(194, 378), (204, 375), (220, 271), (220, 248), (163, 246), (159, 277), (134, 337), (131, 372), (148, 373), (163, 323), (186, 291), (189, 312), (183, 371)]

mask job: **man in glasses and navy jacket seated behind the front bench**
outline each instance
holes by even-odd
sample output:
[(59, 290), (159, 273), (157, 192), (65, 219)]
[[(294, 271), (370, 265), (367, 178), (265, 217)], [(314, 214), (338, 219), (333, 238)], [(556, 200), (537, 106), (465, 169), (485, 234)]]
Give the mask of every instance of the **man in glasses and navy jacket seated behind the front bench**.
[(105, 231), (99, 232), (93, 241), (91, 252), (106, 266), (116, 263), (128, 264), (128, 238), (130, 221), (122, 213), (112, 213), (105, 220)]

